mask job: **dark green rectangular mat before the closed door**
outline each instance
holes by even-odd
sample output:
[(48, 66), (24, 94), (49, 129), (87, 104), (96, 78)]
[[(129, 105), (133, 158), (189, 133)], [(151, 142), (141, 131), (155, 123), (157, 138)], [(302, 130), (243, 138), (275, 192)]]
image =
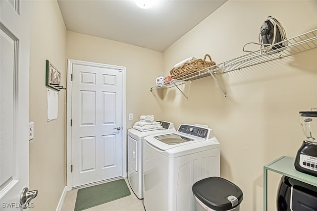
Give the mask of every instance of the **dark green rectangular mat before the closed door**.
[(129, 196), (130, 194), (130, 190), (124, 179), (82, 188), (77, 192), (75, 211), (82, 211)]

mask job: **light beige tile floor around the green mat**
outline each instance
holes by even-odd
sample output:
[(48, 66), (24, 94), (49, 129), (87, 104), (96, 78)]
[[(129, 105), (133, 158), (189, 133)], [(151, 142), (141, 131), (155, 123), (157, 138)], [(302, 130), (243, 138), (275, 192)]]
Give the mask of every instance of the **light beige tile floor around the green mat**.
[[(143, 207), (143, 200), (140, 200), (135, 196), (135, 194), (131, 190), (128, 179), (126, 177), (124, 179), (131, 192), (130, 196), (126, 196), (121, 199), (114, 200), (112, 202), (92, 207), (85, 211), (145, 211)], [(76, 188), (66, 193), (61, 211), (74, 211), (78, 189), (79, 188)]]

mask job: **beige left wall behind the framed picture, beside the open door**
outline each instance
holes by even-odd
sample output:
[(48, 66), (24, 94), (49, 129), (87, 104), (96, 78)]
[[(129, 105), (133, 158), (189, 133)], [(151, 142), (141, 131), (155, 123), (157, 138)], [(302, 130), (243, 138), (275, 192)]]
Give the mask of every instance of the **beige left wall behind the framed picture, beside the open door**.
[(34, 139), (30, 148), (30, 189), (38, 189), (32, 200), (36, 211), (56, 210), (65, 187), (65, 97), (59, 92), (58, 119), (47, 122), (46, 59), (66, 83), (66, 27), (56, 0), (31, 1), (30, 122)]

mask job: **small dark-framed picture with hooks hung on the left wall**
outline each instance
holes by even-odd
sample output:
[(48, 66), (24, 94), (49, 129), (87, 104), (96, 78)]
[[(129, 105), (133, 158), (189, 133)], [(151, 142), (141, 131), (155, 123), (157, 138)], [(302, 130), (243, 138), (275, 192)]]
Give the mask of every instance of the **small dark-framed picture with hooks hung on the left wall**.
[(60, 72), (54, 65), (46, 60), (46, 83), (45, 85), (53, 90), (59, 91), (60, 89)]

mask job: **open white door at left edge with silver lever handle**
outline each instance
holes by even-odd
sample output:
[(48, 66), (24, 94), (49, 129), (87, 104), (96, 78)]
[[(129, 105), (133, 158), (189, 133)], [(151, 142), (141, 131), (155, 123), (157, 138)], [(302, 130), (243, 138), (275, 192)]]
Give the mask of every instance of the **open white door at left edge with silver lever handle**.
[[(29, 186), (29, 2), (0, 0), (0, 210)], [(25, 189), (26, 190), (26, 189)], [(26, 194), (27, 192), (25, 192)], [(30, 193), (36, 196), (35, 192)], [(27, 198), (23, 199), (24, 202)], [(34, 207), (29, 203), (27, 207)]]

